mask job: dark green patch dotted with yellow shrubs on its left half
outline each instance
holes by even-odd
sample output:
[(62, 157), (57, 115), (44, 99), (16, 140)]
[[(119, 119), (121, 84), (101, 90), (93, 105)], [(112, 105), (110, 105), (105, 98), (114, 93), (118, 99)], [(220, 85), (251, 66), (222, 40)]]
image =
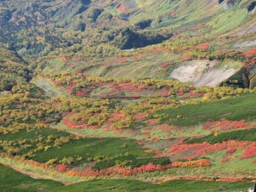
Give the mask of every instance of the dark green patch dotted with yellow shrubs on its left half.
[[(117, 157), (134, 155), (134, 157), (149, 157), (152, 153), (134, 140), (119, 138), (76, 138), (66, 132), (54, 129), (35, 129), (27, 132), (0, 135), (0, 147), (12, 155), (24, 155), (37, 162), (63, 164), (82, 164), (90, 161), (108, 160)], [(8, 142), (8, 146), (3, 143)], [(2, 143), (2, 144), (1, 144)]]

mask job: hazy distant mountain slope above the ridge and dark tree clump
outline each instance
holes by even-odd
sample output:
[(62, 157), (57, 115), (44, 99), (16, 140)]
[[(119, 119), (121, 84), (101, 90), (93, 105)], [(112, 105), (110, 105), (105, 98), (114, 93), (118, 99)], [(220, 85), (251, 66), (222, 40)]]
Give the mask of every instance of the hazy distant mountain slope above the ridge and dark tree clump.
[[(143, 35), (145, 28), (145, 32), (155, 33), (161, 27), (167, 27), (171, 32), (187, 30), (192, 34), (230, 34), (231, 29), (240, 33), (254, 32), (254, 1), (219, 2), (2, 1), (0, 39), (2, 45), (29, 57), (29, 54), (49, 54), (57, 48), (77, 52), (83, 49), (79, 44), (86, 45), (84, 38), (94, 41), (96, 44), (93, 46), (109, 43), (112, 38), (116, 38), (116, 43), (120, 44), (126, 38), (125, 35), (123, 38), (107, 37), (103, 41), (93, 36), (104, 35), (104, 32), (109, 34), (117, 26), (122, 28), (133, 25), (133, 30), (141, 31), (140, 35)], [(191, 28), (200, 24), (204, 24), (204, 29), (193, 32)], [(133, 30), (128, 34), (132, 34)], [(21, 38), (24, 40), (21, 41)], [(149, 38), (154, 40), (155, 37), (153, 35)], [(168, 38), (170, 36), (163, 40)], [(154, 43), (160, 42), (156, 40)], [(116, 46), (115, 43), (110, 46), (130, 48)]]

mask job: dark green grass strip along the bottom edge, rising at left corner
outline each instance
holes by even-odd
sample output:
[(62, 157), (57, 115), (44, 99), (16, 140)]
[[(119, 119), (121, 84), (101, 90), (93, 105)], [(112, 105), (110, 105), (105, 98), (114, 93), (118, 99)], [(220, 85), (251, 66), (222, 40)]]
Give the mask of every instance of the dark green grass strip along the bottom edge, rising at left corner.
[(52, 180), (32, 179), (11, 168), (0, 165), (0, 191), (235, 191), (247, 190), (253, 183), (246, 182), (203, 182), (194, 180), (173, 180), (154, 185), (135, 180), (91, 180), (65, 187)]

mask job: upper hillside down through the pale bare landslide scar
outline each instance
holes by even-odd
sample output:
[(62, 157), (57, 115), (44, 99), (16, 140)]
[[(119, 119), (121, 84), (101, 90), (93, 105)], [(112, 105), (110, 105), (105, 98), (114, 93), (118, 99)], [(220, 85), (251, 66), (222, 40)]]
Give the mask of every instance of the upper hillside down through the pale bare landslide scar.
[[(254, 1), (2, 1), (0, 5), (1, 46), (32, 60), (39, 73), (174, 78), (196, 85), (218, 85), (235, 74), (229, 85), (254, 87)], [(209, 59), (228, 65), (215, 66)], [(194, 60), (191, 69), (182, 60)], [(169, 66), (161, 67), (165, 65)], [(187, 72), (180, 74), (184, 67)]]

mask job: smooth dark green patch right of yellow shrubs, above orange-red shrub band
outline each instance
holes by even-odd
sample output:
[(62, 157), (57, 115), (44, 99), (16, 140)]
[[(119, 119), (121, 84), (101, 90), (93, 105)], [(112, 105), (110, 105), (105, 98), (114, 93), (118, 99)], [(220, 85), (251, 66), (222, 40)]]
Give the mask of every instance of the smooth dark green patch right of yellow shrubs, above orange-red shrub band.
[(144, 152), (133, 140), (121, 140), (119, 138), (85, 138), (69, 141), (60, 148), (51, 148), (48, 151), (38, 152), (33, 158), (38, 162), (47, 162), (52, 158), (83, 157), (80, 163), (87, 162), (87, 158), (94, 158), (98, 155), (105, 157), (115, 157), (126, 152), (138, 157), (148, 157), (151, 153)]

